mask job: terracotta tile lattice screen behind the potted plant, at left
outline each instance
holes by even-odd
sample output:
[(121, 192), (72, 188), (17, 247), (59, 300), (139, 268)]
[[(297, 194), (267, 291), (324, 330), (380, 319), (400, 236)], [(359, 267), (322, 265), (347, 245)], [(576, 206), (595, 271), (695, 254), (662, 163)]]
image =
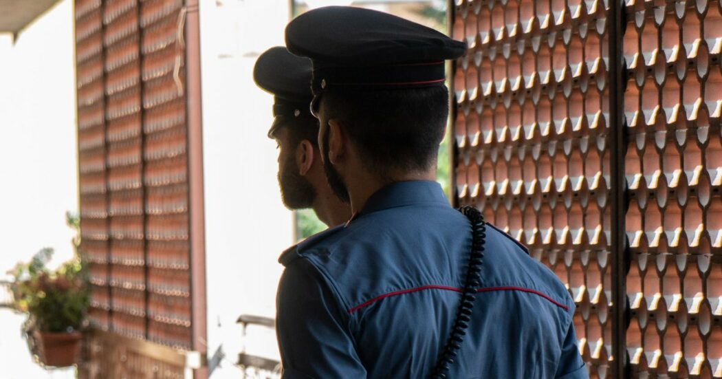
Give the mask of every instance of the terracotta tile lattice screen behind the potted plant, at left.
[(90, 321), (191, 349), (182, 0), (77, 0), (82, 258)]

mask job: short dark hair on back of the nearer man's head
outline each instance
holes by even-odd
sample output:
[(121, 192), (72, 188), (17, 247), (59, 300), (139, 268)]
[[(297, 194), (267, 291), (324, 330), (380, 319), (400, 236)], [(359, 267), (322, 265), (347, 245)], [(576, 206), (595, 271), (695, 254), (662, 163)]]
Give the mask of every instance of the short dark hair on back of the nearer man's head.
[(330, 90), (321, 101), (373, 173), (423, 171), (436, 161), (448, 118), (446, 87)]

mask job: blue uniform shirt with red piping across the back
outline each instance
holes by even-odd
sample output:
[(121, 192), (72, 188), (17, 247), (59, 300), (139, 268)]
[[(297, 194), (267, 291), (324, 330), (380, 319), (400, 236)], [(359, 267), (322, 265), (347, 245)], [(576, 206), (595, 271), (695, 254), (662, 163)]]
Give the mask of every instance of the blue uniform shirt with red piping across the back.
[[(283, 377), (427, 378), (451, 333), (470, 249), (471, 224), (438, 183), (409, 181), (284, 252)], [(569, 292), (490, 226), (479, 288), (448, 378), (588, 378)]]

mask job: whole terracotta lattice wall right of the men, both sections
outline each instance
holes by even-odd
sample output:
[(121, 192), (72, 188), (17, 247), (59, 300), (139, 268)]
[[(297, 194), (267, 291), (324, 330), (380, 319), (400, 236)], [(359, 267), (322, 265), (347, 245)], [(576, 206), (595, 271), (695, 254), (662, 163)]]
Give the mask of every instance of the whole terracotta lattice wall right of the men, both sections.
[[(722, 5), (452, 6), (453, 36), (469, 45), (453, 81), (458, 203), (478, 206), (567, 284), (593, 377), (615, 375), (622, 341), (627, 375), (722, 378)], [(623, 114), (611, 128), (616, 99)], [(620, 170), (626, 186), (612, 188)], [(626, 217), (612, 219), (615, 201)], [(614, 223), (626, 230), (619, 246)], [(614, 306), (615, 261), (625, 307)], [(623, 338), (613, 333), (619, 312)]]

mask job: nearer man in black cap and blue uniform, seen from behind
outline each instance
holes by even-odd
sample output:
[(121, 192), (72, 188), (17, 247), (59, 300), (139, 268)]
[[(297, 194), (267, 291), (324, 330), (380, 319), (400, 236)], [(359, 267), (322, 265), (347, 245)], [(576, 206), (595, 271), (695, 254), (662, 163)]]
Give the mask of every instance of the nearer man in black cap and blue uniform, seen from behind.
[(562, 282), (433, 181), (465, 45), (350, 7), (300, 15), (286, 43), (313, 61), (326, 175), (355, 216), (280, 258), (283, 377), (588, 378)]

